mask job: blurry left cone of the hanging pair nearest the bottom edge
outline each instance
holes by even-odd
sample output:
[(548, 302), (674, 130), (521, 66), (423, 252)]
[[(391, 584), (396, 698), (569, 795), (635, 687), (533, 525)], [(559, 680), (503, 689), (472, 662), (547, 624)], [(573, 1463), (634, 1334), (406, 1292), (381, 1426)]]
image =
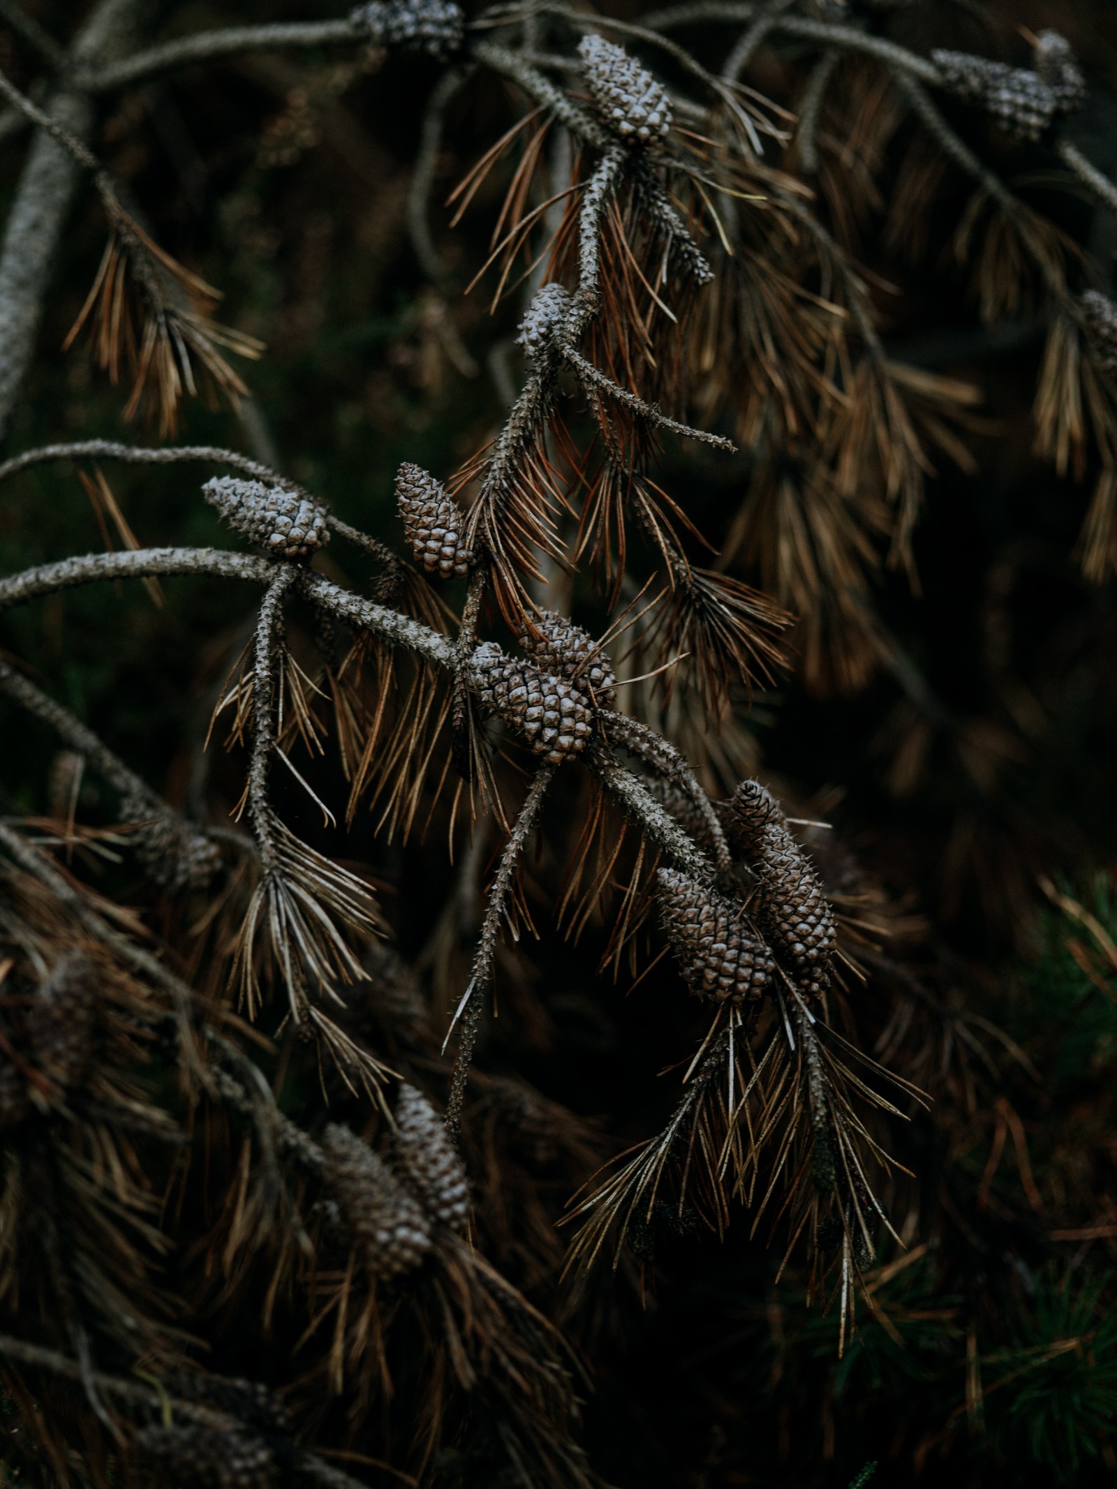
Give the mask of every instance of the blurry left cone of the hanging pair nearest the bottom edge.
[(430, 1251), (430, 1224), (419, 1202), (349, 1127), (326, 1127), (322, 1151), (326, 1187), (360, 1243), (368, 1270), (377, 1278), (414, 1272)]

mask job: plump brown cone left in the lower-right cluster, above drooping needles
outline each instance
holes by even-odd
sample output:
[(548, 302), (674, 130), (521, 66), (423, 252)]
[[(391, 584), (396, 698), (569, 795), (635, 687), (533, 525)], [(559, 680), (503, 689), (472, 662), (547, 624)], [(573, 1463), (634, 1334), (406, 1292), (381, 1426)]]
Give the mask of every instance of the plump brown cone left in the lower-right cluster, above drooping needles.
[(715, 1004), (760, 998), (771, 953), (748, 931), (740, 907), (676, 868), (658, 870), (660, 923), (687, 986)]

